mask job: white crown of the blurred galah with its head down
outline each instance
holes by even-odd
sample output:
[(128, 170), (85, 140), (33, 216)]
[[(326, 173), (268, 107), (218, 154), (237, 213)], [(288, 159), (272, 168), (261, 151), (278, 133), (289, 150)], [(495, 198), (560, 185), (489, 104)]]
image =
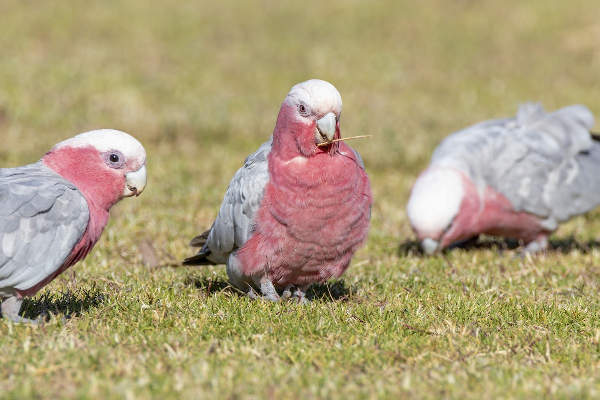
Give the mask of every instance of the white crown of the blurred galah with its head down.
[(407, 213), (421, 236), (435, 237), (445, 231), (460, 211), (464, 197), (463, 177), (454, 170), (427, 170), (416, 181)]

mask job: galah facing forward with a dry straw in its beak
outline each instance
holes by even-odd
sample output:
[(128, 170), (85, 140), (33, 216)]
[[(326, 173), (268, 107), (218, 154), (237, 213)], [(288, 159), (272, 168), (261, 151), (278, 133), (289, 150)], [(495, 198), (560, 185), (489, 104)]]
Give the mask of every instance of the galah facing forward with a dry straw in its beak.
[(235, 174), (211, 230), (191, 242), (202, 249), (184, 264), (227, 264), (233, 285), (260, 287), (271, 301), (280, 300), (275, 286), (284, 297), (295, 286), (305, 303), (311, 284), (341, 276), (367, 239), (373, 203), (361, 157), (334, 142), (341, 109), (330, 83), (294, 86), (272, 139)]

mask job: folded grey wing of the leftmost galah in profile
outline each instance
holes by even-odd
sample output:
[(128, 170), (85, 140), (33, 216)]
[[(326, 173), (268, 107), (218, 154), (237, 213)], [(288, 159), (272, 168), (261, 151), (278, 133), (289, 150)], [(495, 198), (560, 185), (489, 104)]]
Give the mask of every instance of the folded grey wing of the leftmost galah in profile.
[(0, 292), (56, 272), (88, 221), (85, 197), (43, 164), (0, 169)]

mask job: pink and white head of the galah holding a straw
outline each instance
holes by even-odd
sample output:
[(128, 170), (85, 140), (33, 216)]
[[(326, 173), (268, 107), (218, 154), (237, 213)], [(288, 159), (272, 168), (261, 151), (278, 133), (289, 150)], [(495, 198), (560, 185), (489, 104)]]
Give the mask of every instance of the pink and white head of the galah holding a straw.
[[(308, 80), (292, 88), (279, 112), (273, 134), (273, 152), (282, 158), (334, 155), (339, 148), (340, 92), (323, 80)], [(319, 147), (320, 143), (330, 143)]]

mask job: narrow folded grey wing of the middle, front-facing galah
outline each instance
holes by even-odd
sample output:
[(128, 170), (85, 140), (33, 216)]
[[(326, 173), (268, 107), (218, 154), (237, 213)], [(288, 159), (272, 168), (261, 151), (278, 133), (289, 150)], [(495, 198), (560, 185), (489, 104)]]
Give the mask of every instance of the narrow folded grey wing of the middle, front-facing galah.
[(244, 245), (252, 235), (254, 216), (269, 182), (268, 155), (271, 146), (272, 139), (246, 158), (244, 166), (229, 184), (219, 215), (203, 248), (212, 252), (208, 259), (214, 263), (227, 263), (229, 254)]

